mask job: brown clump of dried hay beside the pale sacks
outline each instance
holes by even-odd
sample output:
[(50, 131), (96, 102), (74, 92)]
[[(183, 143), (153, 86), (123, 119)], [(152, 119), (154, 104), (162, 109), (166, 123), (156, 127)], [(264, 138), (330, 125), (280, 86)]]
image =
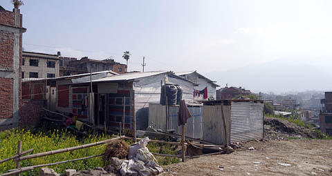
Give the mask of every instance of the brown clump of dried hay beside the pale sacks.
[(105, 148), (103, 157), (104, 166), (111, 160), (111, 157), (126, 159), (128, 154), (128, 145), (122, 140), (111, 141)]

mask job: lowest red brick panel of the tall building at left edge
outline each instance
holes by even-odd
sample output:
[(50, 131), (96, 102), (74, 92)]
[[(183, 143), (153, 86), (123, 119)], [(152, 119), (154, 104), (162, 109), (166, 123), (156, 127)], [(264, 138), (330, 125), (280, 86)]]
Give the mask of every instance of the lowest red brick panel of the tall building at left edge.
[(0, 78), (0, 119), (12, 116), (12, 78)]

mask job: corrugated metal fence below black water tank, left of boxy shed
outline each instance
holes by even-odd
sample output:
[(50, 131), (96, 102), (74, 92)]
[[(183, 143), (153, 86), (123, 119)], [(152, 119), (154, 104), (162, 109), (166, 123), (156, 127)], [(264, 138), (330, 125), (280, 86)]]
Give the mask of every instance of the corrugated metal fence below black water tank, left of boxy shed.
[[(185, 135), (196, 139), (203, 138), (203, 106), (189, 106), (192, 118), (187, 120)], [(166, 106), (149, 104), (149, 125), (153, 122), (157, 129), (166, 129)], [(178, 126), (178, 106), (169, 106), (169, 129), (174, 129), (178, 135), (182, 134), (182, 127)]]

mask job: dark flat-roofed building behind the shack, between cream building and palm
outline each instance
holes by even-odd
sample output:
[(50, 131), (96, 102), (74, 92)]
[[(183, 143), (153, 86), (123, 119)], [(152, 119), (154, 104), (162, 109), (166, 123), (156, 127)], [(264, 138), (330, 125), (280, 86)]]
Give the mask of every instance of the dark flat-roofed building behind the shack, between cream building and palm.
[[(59, 52), (58, 55), (60, 55)], [(59, 59), (60, 77), (83, 74), (91, 72), (91, 70), (92, 72), (111, 70), (120, 74), (127, 72), (127, 66), (114, 61), (114, 59), (96, 60), (88, 57), (82, 57), (80, 60), (77, 60), (75, 57), (59, 57)]]

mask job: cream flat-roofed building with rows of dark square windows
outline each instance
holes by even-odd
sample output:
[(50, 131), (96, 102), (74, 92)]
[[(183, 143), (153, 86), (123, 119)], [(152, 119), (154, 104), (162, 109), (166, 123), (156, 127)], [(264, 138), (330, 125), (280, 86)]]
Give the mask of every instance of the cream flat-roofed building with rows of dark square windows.
[(26, 51), (22, 55), (22, 78), (59, 77), (58, 55)]

